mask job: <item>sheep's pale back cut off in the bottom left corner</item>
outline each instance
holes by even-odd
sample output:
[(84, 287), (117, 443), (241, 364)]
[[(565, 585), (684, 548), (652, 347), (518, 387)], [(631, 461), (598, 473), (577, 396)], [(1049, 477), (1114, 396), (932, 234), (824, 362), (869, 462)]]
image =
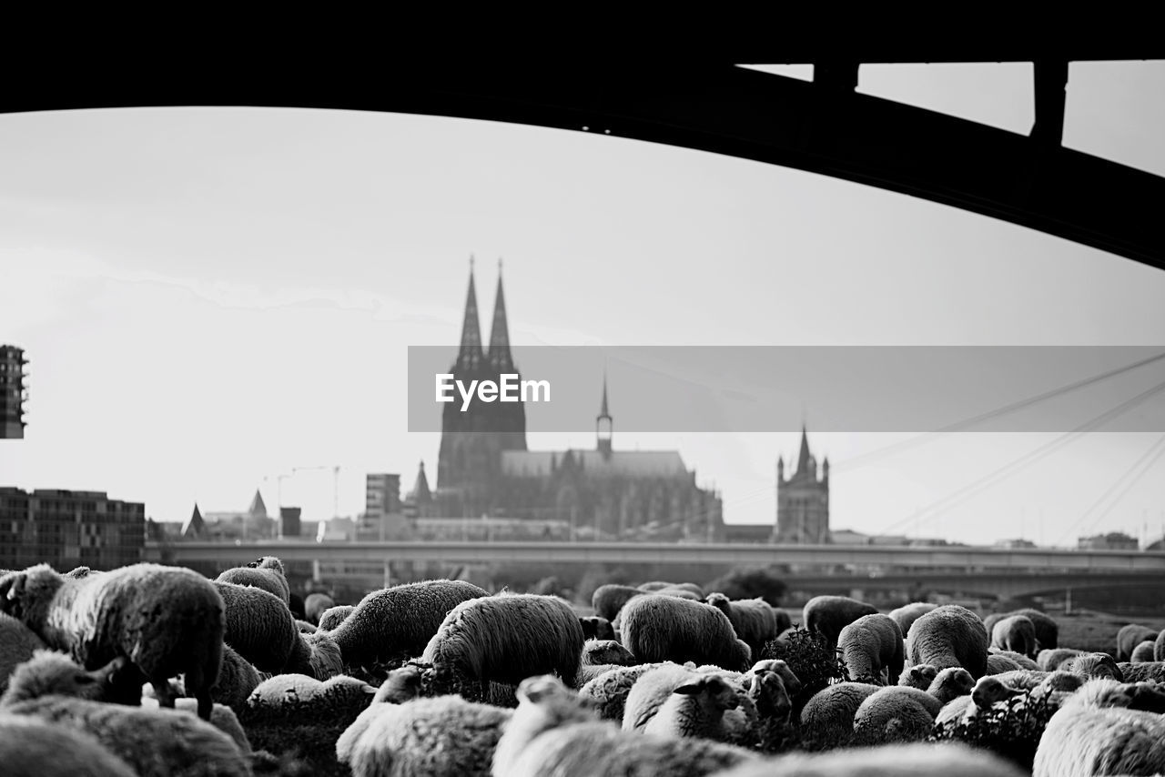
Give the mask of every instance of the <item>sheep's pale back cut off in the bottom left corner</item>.
[(0, 714), (0, 763), (7, 777), (137, 777), (85, 732)]

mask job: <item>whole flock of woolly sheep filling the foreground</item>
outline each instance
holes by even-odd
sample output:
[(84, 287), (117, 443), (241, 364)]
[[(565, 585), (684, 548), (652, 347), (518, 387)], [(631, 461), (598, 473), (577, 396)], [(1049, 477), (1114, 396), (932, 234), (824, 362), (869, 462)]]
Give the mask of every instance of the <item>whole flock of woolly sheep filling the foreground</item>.
[[(292, 595), (273, 557), (216, 580), (0, 571), (0, 772), (1165, 772), (1165, 633), (1139, 626), (1095, 654), (1038, 610), (817, 596), (792, 624), (668, 582), (602, 586), (586, 617), (460, 580), (333, 605)], [(812, 644), (842, 673), (822, 679)]]

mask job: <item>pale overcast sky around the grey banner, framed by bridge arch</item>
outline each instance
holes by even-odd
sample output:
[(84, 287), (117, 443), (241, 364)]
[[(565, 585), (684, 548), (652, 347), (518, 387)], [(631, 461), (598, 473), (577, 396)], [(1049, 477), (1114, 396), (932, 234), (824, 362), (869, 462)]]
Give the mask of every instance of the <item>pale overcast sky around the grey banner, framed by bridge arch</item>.
[[(1030, 65), (867, 65), (859, 89), (1026, 132), (1030, 82)], [(1165, 175), (1163, 94), (1165, 63), (1074, 64), (1065, 143)], [(1160, 270), (744, 160), (397, 114), (0, 115), (0, 342), (31, 362), (0, 485), (181, 521), (256, 488), (274, 513), (275, 476), (318, 466), (282, 488), (318, 520), (332, 466), (344, 515), (368, 472), (407, 490), (423, 459), (433, 478), (439, 437), (407, 431), (407, 347), (456, 346), (471, 254), (483, 337), (504, 257), (523, 345), (1165, 345)], [(616, 447), (679, 448), (729, 522), (772, 522), (796, 433), (620, 435), (617, 387), (610, 404)], [(805, 405), (834, 528), (1064, 543), (1165, 525), (1159, 433), (1085, 436), (977, 488), (1058, 436), (927, 438), (846, 466), (912, 436), (813, 433)], [(566, 445), (594, 438), (530, 436)]]

